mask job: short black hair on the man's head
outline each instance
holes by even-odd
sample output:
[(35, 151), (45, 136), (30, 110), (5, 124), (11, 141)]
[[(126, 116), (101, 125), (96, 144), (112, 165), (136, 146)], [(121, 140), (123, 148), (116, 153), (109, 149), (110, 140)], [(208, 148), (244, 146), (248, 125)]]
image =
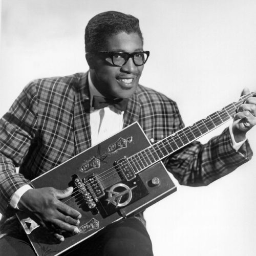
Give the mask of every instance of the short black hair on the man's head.
[(107, 11), (92, 17), (84, 34), (86, 52), (102, 51), (106, 41), (119, 32), (138, 33), (142, 40), (139, 19), (122, 12)]

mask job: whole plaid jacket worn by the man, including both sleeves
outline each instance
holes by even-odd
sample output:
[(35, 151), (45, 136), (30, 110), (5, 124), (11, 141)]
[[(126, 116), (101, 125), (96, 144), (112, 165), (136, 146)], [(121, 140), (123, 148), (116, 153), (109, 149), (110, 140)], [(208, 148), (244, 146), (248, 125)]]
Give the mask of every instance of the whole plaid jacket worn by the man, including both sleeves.
[[(3, 214), (20, 186), (90, 147), (89, 97), (87, 73), (38, 79), (28, 84), (0, 120)], [(155, 142), (183, 127), (176, 103), (143, 86), (129, 99), (124, 114), (124, 126), (135, 121)], [(251, 156), (248, 142), (240, 152), (233, 150), (226, 129), (205, 145), (191, 143), (164, 163), (181, 184), (198, 186), (230, 173)]]

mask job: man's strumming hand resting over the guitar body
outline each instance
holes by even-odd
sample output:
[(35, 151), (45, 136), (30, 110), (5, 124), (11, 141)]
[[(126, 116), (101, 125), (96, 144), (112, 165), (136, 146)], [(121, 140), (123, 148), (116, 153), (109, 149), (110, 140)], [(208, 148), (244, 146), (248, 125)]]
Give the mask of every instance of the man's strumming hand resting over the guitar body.
[(33, 214), (38, 225), (53, 231), (59, 241), (64, 241), (61, 231), (74, 234), (79, 231), (77, 225), (81, 218), (80, 212), (59, 200), (70, 196), (72, 191), (73, 187), (63, 190), (53, 187), (29, 189), (20, 198), (17, 206), (20, 210)]

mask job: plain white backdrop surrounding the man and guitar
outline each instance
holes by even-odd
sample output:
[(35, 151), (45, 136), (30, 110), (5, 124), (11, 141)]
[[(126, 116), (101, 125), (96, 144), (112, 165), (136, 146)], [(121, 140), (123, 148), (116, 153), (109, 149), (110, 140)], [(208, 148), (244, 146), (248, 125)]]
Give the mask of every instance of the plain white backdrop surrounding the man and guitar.
[[(245, 86), (256, 91), (253, 0), (3, 0), (0, 116), (30, 80), (87, 71), (84, 28), (107, 10), (140, 19), (151, 51), (141, 83), (177, 101), (186, 125), (237, 100)], [(255, 164), (207, 187), (176, 182), (178, 191), (145, 213), (155, 255), (256, 255)]]

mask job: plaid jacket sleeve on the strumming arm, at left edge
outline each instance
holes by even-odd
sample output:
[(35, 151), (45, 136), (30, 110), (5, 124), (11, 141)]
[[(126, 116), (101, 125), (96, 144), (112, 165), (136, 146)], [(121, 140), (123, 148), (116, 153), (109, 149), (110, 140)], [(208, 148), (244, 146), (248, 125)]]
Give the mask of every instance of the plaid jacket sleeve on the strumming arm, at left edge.
[(22, 164), (37, 132), (35, 84), (20, 93), (10, 110), (0, 119), (0, 211), (4, 213), (13, 193), (31, 184), (15, 167)]

